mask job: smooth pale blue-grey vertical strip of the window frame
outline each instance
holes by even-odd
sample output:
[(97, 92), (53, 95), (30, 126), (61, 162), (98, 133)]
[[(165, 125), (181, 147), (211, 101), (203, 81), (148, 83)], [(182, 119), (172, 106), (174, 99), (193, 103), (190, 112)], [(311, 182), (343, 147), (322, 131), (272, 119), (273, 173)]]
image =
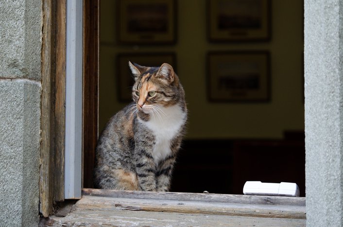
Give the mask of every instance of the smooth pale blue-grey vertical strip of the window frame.
[(64, 197), (81, 199), (83, 116), (83, 2), (67, 0)]

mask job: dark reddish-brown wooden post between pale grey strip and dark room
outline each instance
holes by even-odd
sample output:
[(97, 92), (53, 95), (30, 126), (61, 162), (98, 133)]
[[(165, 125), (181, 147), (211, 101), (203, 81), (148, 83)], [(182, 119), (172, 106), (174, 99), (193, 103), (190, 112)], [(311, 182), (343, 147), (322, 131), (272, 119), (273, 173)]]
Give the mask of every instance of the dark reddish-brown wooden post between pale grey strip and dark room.
[(99, 111), (100, 1), (84, 0), (83, 187), (93, 187)]

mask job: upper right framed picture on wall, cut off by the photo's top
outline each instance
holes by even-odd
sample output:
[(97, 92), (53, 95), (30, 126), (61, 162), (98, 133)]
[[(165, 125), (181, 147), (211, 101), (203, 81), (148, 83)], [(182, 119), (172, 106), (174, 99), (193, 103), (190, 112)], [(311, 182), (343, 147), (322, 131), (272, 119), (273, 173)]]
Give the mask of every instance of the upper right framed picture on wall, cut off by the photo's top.
[(270, 0), (207, 0), (210, 41), (270, 38)]

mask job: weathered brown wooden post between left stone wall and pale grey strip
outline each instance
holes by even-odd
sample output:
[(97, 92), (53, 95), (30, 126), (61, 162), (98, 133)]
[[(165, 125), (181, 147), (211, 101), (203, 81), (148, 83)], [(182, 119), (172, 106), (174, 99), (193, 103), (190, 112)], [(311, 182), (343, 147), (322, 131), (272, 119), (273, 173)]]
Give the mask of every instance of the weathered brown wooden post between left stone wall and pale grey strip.
[(66, 1), (43, 0), (40, 212), (64, 200)]

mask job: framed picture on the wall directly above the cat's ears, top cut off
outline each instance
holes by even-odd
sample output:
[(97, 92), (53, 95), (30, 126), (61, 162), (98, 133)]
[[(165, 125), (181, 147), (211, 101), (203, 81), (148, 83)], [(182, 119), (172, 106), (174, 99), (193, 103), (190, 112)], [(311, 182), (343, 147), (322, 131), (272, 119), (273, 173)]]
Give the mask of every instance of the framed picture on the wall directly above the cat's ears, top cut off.
[(118, 39), (126, 44), (176, 41), (175, 0), (119, 0)]

